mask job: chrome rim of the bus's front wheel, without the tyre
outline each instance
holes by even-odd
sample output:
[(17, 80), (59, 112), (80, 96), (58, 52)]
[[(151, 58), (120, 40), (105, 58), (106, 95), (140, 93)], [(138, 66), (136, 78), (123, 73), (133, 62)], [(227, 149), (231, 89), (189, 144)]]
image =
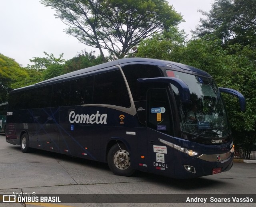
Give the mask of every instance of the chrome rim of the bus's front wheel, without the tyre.
[(130, 155), (126, 150), (118, 150), (114, 155), (114, 164), (120, 170), (130, 167)]

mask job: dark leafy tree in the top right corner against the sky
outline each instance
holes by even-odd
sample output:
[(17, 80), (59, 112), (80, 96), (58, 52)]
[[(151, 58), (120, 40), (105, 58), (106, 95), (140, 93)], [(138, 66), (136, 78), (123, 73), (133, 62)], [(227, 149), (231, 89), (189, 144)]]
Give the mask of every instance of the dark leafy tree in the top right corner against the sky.
[(239, 43), (256, 47), (256, 0), (215, 0), (206, 19), (193, 31), (197, 37), (214, 34), (225, 45)]

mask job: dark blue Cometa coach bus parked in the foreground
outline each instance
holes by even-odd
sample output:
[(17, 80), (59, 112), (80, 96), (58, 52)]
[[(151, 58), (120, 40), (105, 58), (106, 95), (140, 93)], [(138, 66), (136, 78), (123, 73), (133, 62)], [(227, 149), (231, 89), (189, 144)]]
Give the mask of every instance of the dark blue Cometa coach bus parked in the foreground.
[(238, 97), (245, 110), (238, 91), (218, 88), (200, 69), (119, 59), (11, 91), (6, 141), (22, 152), (107, 162), (116, 175), (212, 175), (230, 170), (234, 158), (221, 93)]

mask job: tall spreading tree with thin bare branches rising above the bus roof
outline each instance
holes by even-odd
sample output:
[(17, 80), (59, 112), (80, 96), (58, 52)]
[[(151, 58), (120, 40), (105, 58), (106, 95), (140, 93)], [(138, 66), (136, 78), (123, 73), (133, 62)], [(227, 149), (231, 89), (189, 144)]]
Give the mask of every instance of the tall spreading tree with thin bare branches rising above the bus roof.
[(182, 21), (166, 0), (42, 0), (69, 26), (67, 34), (122, 58), (142, 39)]

